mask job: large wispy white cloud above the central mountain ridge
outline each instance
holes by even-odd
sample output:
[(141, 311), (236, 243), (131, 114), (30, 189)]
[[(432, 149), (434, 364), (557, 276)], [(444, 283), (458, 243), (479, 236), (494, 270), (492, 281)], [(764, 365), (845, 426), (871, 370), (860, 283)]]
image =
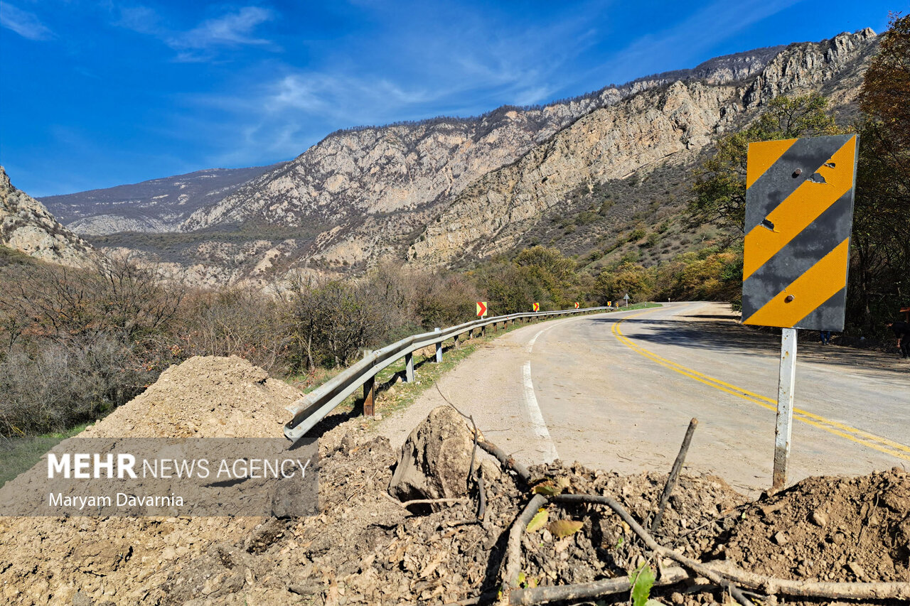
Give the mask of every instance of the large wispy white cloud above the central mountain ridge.
[(337, 41), (345, 53), (315, 56), (308, 67), (238, 74), (229, 92), (187, 99), (202, 111), (175, 131), (206, 132), (229, 150), (210, 163), (241, 166), (295, 157), (338, 128), (546, 103), (597, 35), (582, 17), (511, 31), (480, 17), (396, 27), (379, 39)]

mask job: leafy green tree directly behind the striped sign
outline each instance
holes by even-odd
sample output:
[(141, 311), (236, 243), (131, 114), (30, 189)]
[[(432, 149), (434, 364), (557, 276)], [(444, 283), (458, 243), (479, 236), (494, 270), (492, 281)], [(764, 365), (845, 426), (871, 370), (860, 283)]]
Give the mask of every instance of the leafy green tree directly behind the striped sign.
[(746, 153), (750, 143), (800, 136), (833, 135), (834, 116), (818, 93), (774, 97), (745, 129), (722, 136), (717, 151), (695, 170), (694, 198), (687, 207), (694, 225), (717, 222), (743, 230)]

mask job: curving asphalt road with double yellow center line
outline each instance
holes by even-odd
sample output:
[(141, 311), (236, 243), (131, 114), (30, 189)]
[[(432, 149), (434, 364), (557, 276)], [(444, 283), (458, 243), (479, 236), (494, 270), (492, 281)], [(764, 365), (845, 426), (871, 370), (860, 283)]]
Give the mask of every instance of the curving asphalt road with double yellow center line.
[[(672, 303), (531, 325), (481, 348), (440, 389), (527, 463), (665, 472), (694, 417), (685, 472), (763, 490), (773, 467), (780, 335), (737, 325), (725, 307)], [(825, 347), (816, 335), (804, 332), (797, 351), (788, 483), (910, 468), (910, 363)], [(442, 403), (430, 389), (379, 430), (398, 445)]]

